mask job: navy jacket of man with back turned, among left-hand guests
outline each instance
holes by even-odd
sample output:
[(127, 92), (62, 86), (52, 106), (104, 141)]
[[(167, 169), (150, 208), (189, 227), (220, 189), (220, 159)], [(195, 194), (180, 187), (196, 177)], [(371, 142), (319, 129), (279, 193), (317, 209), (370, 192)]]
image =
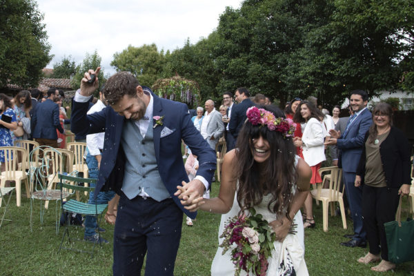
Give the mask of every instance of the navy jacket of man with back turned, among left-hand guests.
[(59, 106), (51, 99), (46, 99), (43, 103), (37, 103), (32, 117), (32, 137), (43, 139), (56, 139), (57, 132), (63, 133), (63, 128), (59, 121)]

